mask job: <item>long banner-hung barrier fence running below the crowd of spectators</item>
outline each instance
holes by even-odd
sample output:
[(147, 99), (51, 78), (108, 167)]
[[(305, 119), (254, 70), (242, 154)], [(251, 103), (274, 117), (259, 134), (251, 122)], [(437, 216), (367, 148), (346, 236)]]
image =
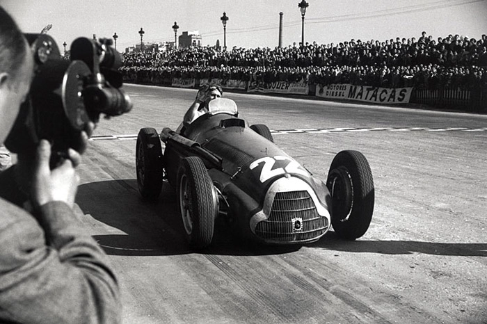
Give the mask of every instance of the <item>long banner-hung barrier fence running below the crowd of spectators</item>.
[[(440, 88), (436, 90), (416, 88), (378, 88), (332, 84), (327, 86), (307, 82), (255, 82), (232, 79), (193, 79), (158, 77), (150, 74), (125, 74), (127, 83), (153, 84), (177, 88), (199, 88), (208, 83), (219, 83), (225, 90), (246, 92), (278, 93), (322, 97), (328, 100), (351, 99), (375, 104), (424, 104), (438, 108), (474, 113), (487, 113), (487, 90), (464, 90), (461, 88)], [(328, 89), (328, 91), (327, 91)]]

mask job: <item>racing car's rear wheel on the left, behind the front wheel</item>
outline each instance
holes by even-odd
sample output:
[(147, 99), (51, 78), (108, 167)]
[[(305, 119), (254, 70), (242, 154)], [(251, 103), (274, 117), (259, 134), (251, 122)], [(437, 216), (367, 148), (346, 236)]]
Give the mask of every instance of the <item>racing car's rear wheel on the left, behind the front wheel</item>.
[(163, 156), (159, 134), (146, 127), (138, 132), (136, 144), (138, 191), (145, 200), (157, 200), (163, 180)]

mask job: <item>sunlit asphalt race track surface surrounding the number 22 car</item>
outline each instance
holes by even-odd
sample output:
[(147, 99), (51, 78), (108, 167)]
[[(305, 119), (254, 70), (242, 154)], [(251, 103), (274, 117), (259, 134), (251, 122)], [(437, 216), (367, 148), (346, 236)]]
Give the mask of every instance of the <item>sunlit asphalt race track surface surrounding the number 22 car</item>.
[(175, 193), (143, 202), (142, 127), (175, 129), (196, 90), (126, 87), (79, 167), (77, 202), (118, 274), (124, 323), (487, 323), (487, 115), (228, 93), (241, 117), (321, 179), (358, 149), (376, 187), (362, 238), (245, 246), (218, 225), (211, 248), (182, 236)]

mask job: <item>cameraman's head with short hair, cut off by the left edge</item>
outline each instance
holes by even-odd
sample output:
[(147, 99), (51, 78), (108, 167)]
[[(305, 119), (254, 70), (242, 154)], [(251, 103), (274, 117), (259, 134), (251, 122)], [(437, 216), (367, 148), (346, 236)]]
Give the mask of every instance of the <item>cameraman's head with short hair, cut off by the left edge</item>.
[(29, 44), (12, 17), (0, 6), (0, 143), (10, 132), (33, 76)]

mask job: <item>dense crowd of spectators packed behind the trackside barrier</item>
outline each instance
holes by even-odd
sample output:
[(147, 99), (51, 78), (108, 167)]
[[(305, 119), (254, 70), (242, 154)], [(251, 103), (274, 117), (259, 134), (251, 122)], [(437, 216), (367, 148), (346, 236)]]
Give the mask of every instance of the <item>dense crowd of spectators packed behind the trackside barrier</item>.
[(165, 52), (131, 52), (121, 68), (127, 79), (163, 83), (172, 78), (242, 81), (306, 81), (326, 86), (351, 83), (385, 88), (487, 89), (487, 36), (448, 35), (350, 40), (339, 44), (221, 51), (189, 47)]

